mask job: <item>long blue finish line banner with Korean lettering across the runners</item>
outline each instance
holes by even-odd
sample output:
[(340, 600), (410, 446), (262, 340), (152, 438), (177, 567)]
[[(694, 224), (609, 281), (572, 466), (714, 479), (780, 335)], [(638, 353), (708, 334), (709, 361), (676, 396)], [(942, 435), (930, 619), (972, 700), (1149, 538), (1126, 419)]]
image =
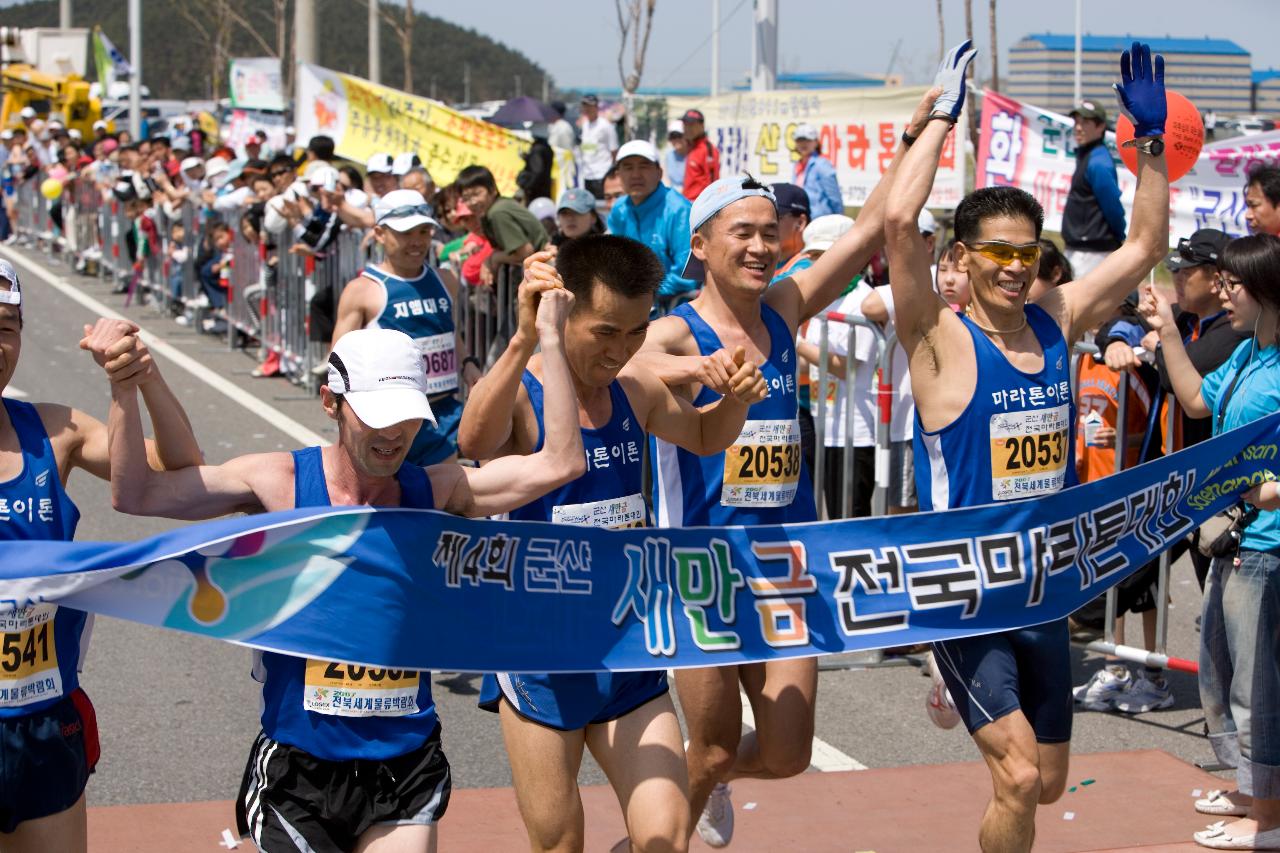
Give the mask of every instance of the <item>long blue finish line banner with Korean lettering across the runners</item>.
[(1280, 415), (1097, 483), (945, 514), (599, 530), (298, 510), (136, 543), (0, 544), (56, 602), (369, 666), (582, 671), (901, 646), (1066, 616), (1275, 479)]

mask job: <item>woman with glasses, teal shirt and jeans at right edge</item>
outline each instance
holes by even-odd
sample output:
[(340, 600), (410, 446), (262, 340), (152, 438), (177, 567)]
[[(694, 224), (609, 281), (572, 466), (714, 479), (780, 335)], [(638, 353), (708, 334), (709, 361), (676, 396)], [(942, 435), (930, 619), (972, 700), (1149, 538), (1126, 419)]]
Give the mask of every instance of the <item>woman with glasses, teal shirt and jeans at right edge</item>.
[[(1280, 238), (1240, 237), (1219, 264), (1219, 297), (1238, 332), (1253, 332), (1203, 379), (1192, 366), (1169, 302), (1148, 286), (1140, 310), (1160, 334), (1178, 402), (1212, 418), (1213, 434), (1280, 410)], [(1219, 760), (1235, 766), (1236, 790), (1196, 802), (1236, 817), (1196, 834), (1215, 849), (1280, 848), (1280, 494), (1275, 480), (1243, 497), (1235, 553), (1215, 557), (1201, 619), (1201, 704)]]

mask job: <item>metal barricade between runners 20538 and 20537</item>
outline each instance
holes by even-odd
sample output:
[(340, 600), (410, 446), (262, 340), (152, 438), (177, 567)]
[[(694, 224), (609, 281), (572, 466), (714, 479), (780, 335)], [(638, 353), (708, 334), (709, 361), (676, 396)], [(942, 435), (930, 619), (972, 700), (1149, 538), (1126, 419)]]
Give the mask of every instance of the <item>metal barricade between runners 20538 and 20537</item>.
[[(829, 311), (827, 314), (814, 318), (818, 323), (818, 389), (817, 389), (817, 412), (814, 415), (814, 473), (813, 473), (813, 491), (814, 500), (818, 502), (818, 514), (822, 515), (826, 507), (824, 498), (824, 483), (827, 474), (826, 465), (826, 439), (827, 439), (827, 394), (826, 386), (829, 377), (829, 324), (831, 323), (844, 323), (849, 328), (850, 338), (854, 334), (854, 327), (861, 327), (870, 330), (876, 339), (876, 365), (879, 370), (881, 378), (876, 387), (877, 394), (877, 410), (878, 415), (876, 419), (876, 491), (872, 493), (872, 514), (884, 515), (888, 506), (888, 467), (890, 467), (890, 415), (892, 407), (892, 377), (891, 370), (893, 348), (890, 341), (884, 337), (884, 332), (881, 330), (879, 324), (873, 320), (868, 320), (860, 314), (840, 314), (837, 311)], [(851, 389), (858, 375), (856, 364), (858, 360), (852, 357), (852, 343), (847, 347), (849, 353), (845, 359), (845, 443), (841, 455), (841, 483), (844, 489), (841, 489), (841, 517), (850, 517), (852, 512), (852, 489), (850, 484), (854, 480), (854, 419), (855, 411), (851, 401)], [(810, 394), (813, 394), (813, 386), (810, 384)]]

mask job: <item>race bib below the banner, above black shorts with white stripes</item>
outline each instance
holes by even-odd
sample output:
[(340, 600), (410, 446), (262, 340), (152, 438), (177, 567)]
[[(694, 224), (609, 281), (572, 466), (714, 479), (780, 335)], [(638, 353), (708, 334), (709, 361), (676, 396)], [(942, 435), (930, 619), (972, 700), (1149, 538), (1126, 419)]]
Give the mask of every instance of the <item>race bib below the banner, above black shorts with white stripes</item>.
[(302, 707), (335, 717), (417, 713), (419, 672), (307, 658)]

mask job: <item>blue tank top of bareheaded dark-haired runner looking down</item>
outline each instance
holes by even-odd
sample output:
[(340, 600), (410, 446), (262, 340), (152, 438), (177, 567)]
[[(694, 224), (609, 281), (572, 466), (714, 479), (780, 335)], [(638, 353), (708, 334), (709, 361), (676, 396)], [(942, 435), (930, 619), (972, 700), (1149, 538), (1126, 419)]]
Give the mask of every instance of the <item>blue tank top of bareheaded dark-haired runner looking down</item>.
[[(536, 452), (541, 450), (547, 435), (543, 423), (543, 384), (527, 370), (521, 382), (529, 391), (529, 402), (538, 418)], [(616, 379), (609, 384), (609, 423), (599, 429), (582, 429), (586, 471), (572, 483), (512, 510), (508, 517), (518, 521), (585, 524), (593, 528), (648, 526), (640, 461), (644, 433), (631, 411), (626, 392)]]

